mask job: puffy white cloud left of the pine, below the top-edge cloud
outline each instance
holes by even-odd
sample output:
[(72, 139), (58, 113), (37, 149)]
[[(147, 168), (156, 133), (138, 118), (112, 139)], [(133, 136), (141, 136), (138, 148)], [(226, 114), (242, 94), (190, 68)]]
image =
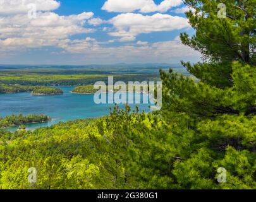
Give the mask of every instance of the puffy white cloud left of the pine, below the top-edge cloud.
[(138, 13), (123, 13), (111, 20), (116, 31), (109, 32), (113, 37), (121, 37), (121, 40), (135, 40), (140, 33), (162, 32), (189, 28), (186, 18), (180, 16), (163, 15), (141, 15)]

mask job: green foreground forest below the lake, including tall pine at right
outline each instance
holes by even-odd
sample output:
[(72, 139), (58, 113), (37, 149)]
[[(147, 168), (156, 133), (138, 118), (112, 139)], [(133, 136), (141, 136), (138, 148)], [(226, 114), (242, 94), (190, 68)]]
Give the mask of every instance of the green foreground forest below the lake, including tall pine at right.
[[(185, 0), (204, 62), (160, 71), (162, 110), (0, 132), (1, 189), (256, 189), (255, 0)], [(29, 183), (28, 169), (37, 169)], [(218, 181), (226, 170), (225, 182)]]

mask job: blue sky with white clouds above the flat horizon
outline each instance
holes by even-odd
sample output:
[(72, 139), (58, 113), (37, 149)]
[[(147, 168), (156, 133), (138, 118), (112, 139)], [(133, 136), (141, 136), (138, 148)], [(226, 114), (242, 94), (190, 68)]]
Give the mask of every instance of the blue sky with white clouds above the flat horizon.
[[(2, 3), (3, 2), (3, 3)], [(0, 2), (0, 64), (198, 61), (181, 0)]]

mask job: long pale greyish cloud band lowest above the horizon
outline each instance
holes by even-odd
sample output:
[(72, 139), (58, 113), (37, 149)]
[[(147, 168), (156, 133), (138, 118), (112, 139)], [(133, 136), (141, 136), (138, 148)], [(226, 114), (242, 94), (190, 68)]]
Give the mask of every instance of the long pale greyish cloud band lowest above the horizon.
[[(108, 43), (114, 42), (114, 40)], [(63, 50), (59, 52), (52, 52), (52, 54), (59, 56), (62, 54), (71, 55), (78, 63), (113, 63), (113, 62), (168, 62), (177, 63), (181, 59), (188, 61), (200, 60), (200, 54), (195, 50), (183, 45), (178, 39), (155, 42), (153, 44), (146, 44), (145, 42), (138, 42), (135, 45), (121, 45), (114, 47), (102, 46), (102, 42), (87, 37), (83, 40), (31, 40), (31, 39), (8, 39), (1, 41), (0, 47), (4, 45), (9, 50), (24, 49), (27, 47), (39, 47), (42, 45), (56, 44)], [(138, 46), (140, 45), (140, 46)], [(0, 48), (1, 49), (1, 48)]]

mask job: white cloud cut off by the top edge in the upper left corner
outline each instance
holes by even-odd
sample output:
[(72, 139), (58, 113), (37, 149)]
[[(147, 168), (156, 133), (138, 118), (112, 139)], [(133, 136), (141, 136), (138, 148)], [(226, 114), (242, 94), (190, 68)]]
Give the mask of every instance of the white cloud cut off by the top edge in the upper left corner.
[(56, 0), (0, 0), (0, 15), (27, 13), (28, 4), (35, 4), (37, 11), (52, 11), (60, 6)]

